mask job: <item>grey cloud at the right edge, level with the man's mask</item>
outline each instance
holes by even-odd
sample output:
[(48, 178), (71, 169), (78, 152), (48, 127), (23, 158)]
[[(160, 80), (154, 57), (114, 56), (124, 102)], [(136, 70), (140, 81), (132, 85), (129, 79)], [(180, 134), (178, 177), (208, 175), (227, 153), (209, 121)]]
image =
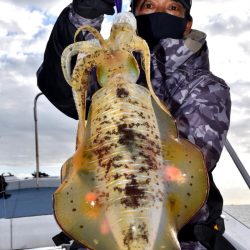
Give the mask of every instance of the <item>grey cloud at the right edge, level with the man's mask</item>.
[(242, 21), (236, 16), (225, 18), (221, 14), (211, 17), (209, 24), (204, 30), (213, 35), (239, 35), (249, 31), (250, 17), (246, 21)]

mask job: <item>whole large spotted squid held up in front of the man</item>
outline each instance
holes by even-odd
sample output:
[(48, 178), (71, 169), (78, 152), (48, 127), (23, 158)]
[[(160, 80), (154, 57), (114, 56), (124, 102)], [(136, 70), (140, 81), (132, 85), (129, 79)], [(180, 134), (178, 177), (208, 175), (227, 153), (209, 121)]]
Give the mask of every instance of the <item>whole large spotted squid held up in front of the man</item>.
[[(131, 18), (119, 14), (107, 40), (92, 27), (80, 28), (97, 40), (74, 43), (62, 55), (80, 129), (77, 150), (62, 167), (54, 213), (63, 231), (90, 249), (180, 249), (178, 231), (206, 200), (207, 172), (200, 150), (178, 137), (152, 89), (148, 46)], [(135, 84), (133, 51), (142, 55), (148, 89)], [(71, 75), (71, 57), (79, 53)], [(102, 88), (85, 123), (93, 67)]]

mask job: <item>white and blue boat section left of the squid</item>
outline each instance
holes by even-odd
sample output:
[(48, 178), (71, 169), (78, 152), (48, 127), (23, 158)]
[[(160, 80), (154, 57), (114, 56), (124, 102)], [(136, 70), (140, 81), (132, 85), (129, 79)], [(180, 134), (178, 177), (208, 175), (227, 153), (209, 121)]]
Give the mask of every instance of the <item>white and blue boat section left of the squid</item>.
[(54, 246), (52, 237), (61, 229), (53, 216), (52, 194), (59, 177), (5, 176), (7, 199), (0, 199), (0, 249)]

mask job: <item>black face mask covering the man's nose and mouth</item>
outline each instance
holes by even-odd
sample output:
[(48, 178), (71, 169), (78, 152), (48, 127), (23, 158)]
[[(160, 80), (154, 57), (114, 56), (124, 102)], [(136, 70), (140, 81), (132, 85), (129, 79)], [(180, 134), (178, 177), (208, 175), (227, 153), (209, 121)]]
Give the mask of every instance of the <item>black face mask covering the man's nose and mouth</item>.
[(138, 35), (146, 40), (150, 49), (161, 39), (183, 38), (188, 22), (186, 18), (162, 12), (136, 16), (135, 18), (137, 20)]

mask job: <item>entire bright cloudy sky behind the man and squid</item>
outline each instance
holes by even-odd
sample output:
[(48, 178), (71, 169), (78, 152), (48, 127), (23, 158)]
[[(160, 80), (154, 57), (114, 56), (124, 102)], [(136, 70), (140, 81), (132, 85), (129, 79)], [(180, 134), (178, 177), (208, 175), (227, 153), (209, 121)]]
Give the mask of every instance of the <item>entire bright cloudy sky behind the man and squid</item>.
[[(69, 0), (0, 0), (0, 173), (26, 176), (35, 169), (33, 102), (36, 70), (60, 11)], [(127, 1), (125, 1), (127, 5)], [(250, 172), (250, 5), (248, 0), (194, 0), (194, 28), (207, 33), (214, 74), (231, 88), (228, 135)], [(110, 18), (102, 33), (107, 37)], [(76, 122), (41, 96), (38, 100), (41, 171), (58, 175), (73, 154)], [(249, 203), (250, 192), (227, 152), (215, 171), (225, 201)]]

